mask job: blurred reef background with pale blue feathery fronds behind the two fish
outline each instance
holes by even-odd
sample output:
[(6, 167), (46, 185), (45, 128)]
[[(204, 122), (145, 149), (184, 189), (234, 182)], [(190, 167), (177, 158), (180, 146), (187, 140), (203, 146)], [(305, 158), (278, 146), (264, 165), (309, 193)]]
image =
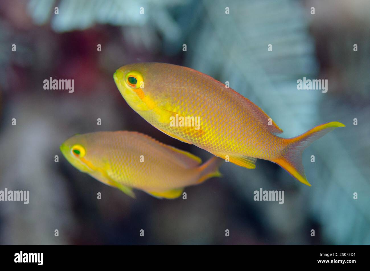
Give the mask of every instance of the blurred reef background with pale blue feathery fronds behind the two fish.
[[(0, 190), (30, 190), (30, 203), (0, 202), (0, 244), (369, 245), (369, 10), (368, 0), (1, 1)], [(151, 61), (229, 81), (283, 137), (329, 121), (346, 127), (303, 154), (312, 187), (258, 160), (254, 170), (223, 165), (223, 178), (186, 188), (187, 200), (140, 191), (133, 200), (76, 170), (59, 145), (76, 133), (135, 130), (210, 157), (152, 127), (121, 97), (114, 71)], [(74, 93), (44, 90), (49, 77), (74, 79)], [(327, 79), (327, 93), (297, 90), (303, 77)], [(254, 201), (260, 188), (285, 190), (285, 203)]]

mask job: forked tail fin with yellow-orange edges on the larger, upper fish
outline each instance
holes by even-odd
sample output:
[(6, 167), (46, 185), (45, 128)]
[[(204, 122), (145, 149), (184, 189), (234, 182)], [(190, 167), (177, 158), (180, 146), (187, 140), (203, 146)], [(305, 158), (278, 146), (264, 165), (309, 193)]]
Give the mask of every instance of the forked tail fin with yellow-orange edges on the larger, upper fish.
[(301, 183), (311, 186), (307, 181), (305, 170), (303, 168), (302, 153), (313, 141), (319, 139), (337, 127), (345, 127), (345, 125), (338, 121), (332, 121), (316, 126), (297, 137), (289, 138), (287, 147), (282, 156), (272, 160), (272, 162), (280, 165), (280, 167), (288, 171)]

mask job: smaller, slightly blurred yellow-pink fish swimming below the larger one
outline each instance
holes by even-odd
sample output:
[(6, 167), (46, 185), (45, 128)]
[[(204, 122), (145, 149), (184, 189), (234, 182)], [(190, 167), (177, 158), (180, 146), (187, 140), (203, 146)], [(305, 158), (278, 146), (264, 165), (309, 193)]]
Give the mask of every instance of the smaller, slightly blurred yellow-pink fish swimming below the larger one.
[(136, 188), (158, 198), (177, 198), (185, 186), (220, 177), (223, 162), (213, 157), (200, 165), (191, 153), (129, 131), (77, 134), (60, 150), (78, 170), (131, 197)]

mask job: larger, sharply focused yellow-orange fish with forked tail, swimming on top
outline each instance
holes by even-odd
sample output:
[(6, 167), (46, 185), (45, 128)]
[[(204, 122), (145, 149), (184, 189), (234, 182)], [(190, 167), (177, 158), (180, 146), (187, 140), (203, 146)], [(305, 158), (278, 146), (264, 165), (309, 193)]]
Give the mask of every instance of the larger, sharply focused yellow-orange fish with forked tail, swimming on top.
[(113, 78), (129, 106), (169, 136), (246, 168), (255, 168), (257, 158), (272, 161), (307, 185), (303, 150), (334, 128), (345, 126), (333, 121), (294, 138), (279, 137), (276, 134), (283, 131), (258, 106), (187, 67), (129, 64)]

